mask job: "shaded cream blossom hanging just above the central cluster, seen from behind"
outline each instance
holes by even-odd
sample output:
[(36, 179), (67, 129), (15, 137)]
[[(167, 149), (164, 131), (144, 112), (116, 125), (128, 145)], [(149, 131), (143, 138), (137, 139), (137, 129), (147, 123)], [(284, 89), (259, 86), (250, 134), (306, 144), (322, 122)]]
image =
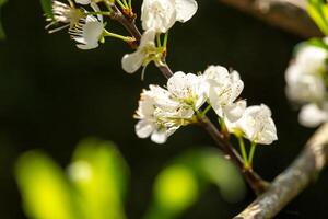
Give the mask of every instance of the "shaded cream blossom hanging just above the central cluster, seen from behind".
[(132, 54), (127, 54), (121, 59), (122, 69), (128, 73), (136, 72), (141, 66), (147, 66), (150, 61), (161, 65), (161, 53), (155, 46), (155, 32), (148, 30), (143, 33), (138, 49)]

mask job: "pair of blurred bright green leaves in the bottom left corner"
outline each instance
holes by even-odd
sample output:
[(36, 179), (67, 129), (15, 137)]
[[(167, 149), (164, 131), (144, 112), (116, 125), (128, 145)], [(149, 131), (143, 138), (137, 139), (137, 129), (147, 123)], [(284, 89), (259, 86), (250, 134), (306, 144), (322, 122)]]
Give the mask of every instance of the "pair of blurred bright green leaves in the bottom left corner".
[(113, 143), (82, 141), (67, 173), (38, 151), (19, 159), (16, 181), (30, 218), (125, 218), (128, 169)]

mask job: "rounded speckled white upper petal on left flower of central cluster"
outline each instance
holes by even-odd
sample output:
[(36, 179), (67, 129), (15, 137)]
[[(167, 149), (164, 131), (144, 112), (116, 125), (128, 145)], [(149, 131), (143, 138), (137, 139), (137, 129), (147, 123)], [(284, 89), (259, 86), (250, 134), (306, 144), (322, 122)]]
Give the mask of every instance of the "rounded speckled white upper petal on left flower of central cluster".
[(167, 81), (167, 90), (177, 101), (189, 105), (194, 110), (199, 110), (206, 102), (206, 90), (203, 78), (194, 73), (178, 71)]

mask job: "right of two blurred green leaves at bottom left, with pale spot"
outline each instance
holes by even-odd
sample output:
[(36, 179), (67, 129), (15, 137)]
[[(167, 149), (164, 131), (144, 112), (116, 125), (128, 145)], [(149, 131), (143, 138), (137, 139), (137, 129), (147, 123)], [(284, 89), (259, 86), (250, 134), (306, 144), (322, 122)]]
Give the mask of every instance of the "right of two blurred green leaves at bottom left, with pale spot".
[[(69, 169), (87, 219), (122, 219), (128, 166), (112, 142), (87, 139), (79, 143)], [(83, 206), (87, 208), (83, 208)]]

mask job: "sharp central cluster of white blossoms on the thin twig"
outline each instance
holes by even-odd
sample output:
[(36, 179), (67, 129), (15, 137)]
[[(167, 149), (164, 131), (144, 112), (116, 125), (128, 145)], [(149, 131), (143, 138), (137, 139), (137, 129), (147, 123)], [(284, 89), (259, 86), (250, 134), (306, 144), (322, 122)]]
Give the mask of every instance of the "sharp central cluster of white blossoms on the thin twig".
[(263, 104), (246, 107), (246, 101), (238, 100), (243, 88), (238, 72), (221, 66), (210, 66), (200, 76), (178, 71), (168, 79), (167, 90), (150, 85), (141, 93), (136, 132), (163, 143), (180, 126), (202, 119), (201, 107), (208, 102), (230, 132), (270, 145), (277, 140), (271, 112)]

